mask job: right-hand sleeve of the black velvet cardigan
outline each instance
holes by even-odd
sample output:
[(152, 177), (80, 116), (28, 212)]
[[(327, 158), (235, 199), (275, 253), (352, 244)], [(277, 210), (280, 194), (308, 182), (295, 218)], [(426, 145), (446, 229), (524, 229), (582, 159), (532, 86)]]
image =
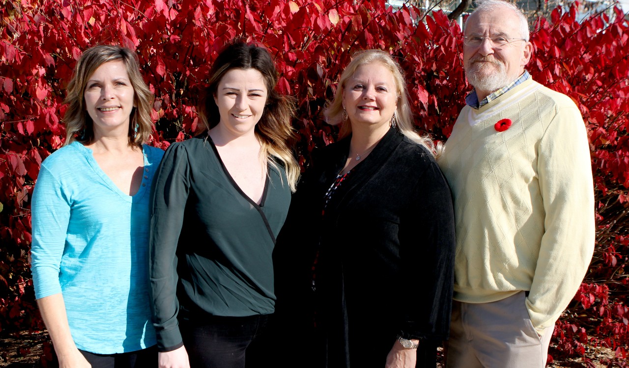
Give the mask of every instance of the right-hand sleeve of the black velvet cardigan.
[(401, 335), (445, 340), (454, 285), (454, 208), (450, 188), (436, 163), (426, 168), (412, 193), (400, 234), (400, 255), (409, 286), (408, 305), (400, 306), (406, 310)]

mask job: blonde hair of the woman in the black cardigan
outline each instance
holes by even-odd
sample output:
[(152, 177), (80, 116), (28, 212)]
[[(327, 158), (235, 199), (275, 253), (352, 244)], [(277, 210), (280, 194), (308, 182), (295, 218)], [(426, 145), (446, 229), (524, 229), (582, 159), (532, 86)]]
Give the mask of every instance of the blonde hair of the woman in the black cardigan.
[(344, 138), (352, 133), (352, 124), (349, 121), (343, 121), (343, 92), (345, 91), (345, 82), (356, 72), (359, 67), (371, 63), (381, 63), (391, 72), (395, 81), (396, 94), (398, 96), (398, 108), (396, 109), (396, 129), (411, 141), (421, 144), (433, 156), (438, 155), (439, 149), (435, 147), (432, 139), (428, 136), (420, 136), (415, 131), (413, 124), (413, 113), (408, 102), (408, 91), (404, 83), (403, 72), (399, 64), (393, 60), (391, 55), (382, 50), (363, 50), (353, 55), (352, 61), (345, 67), (341, 78), (338, 81), (337, 92), (332, 102), (329, 102), (325, 108), (324, 114), (328, 124), (337, 125), (342, 123), (339, 132), (339, 138)]

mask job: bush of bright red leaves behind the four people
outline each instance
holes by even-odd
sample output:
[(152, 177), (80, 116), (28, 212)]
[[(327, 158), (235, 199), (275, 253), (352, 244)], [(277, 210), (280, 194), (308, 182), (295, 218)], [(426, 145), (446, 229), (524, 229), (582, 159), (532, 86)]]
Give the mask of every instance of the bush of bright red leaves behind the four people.
[[(598, 203), (596, 253), (557, 324), (554, 351), (610, 347), (610, 365), (626, 361), (629, 342), (629, 27), (616, 13), (613, 21), (598, 15), (578, 23), (573, 7), (540, 19), (528, 65), (535, 80), (581, 109)], [(416, 125), (437, 139), (450, 134), (470, 89), (459, 26), (440, 12), (393, 11), (383, 0), (22, 0), (5, 2), (0, 17), (0, 330), (8, 333), (43, 328), (28, 269), (29, 201), (40, 163), (64, 141), (64, 87), (81, 50), (97, 43), (136, 50), (156, 96), (152, 144), (166, 148), (196, 131), (198, 92), (222, 46), (235, 37), (263, 43), (276, 57), (279, 90), (298, 100), (293, 124), (303, 165), (313, 147), (336, 137), (321, 111), (356, 50), (399, 58)]]

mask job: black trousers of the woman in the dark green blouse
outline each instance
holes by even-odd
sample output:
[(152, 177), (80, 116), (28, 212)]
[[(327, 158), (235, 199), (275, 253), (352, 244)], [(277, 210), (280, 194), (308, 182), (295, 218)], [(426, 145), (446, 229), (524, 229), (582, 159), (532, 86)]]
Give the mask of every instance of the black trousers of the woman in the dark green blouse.
[[(179, 322), (191, 368), (270, 367), (264, 337), (271, 315), (220, 317), (195, 313)], [(246, 362), (246, 365), (245, 365)]]

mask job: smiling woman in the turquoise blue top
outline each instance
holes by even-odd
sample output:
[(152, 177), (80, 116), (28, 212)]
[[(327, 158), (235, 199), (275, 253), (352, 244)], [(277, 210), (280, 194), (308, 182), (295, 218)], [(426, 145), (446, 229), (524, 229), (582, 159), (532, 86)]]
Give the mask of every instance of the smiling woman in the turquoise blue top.
[(143, 144), (153, 95), (133, 51), (99, 45), (67, 87), (65, 146), (32, 203), (35, 296), (61, 367), (157, 364), (148, 299), (148, 198), (164, 151)]

